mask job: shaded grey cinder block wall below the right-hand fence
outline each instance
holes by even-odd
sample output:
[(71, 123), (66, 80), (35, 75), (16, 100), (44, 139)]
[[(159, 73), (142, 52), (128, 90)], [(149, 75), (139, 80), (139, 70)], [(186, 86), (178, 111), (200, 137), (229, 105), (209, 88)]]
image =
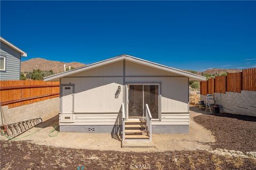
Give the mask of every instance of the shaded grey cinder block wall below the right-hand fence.
[[(206, 101), (206, 96), (200, 95), (200, 100)], [(214, 93), (214, 100), (222, 106), (222, 112), (256, 116), (256, 91)]]

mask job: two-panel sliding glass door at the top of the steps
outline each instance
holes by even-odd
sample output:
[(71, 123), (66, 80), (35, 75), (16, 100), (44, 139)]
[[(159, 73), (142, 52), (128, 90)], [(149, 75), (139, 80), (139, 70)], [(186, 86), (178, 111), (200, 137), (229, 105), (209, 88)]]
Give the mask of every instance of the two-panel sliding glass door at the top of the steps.
[(159, 84), (128, 84), (127, 87), (128, 118), (142, 118), (148, 104), (152, 118), (159, 120)]

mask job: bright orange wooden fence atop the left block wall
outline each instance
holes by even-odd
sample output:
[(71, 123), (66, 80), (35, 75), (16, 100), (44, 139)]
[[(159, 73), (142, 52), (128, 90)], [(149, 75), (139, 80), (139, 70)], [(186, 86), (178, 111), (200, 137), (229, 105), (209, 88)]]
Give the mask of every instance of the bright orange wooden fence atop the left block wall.
[(4, 80), (0, 81), (1, 106), (9, 108), (28, 105), (38, 101), (59, 97), (59, 81)]

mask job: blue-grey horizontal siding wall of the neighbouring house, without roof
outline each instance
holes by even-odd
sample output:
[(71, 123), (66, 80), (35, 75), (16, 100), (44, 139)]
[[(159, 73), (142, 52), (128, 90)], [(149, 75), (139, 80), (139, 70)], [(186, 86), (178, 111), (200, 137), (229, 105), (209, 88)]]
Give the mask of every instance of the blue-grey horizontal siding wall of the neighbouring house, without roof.
[(6, 57), (6, 69), (0, 72), (0, 79), (20, 80), (20, 53), (1, 42), (0, 54)]

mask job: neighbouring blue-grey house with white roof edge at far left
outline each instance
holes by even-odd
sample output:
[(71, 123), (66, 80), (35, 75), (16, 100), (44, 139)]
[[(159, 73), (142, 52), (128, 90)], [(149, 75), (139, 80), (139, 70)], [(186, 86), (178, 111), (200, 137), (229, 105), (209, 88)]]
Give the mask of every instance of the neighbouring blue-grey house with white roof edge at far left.
[(0, 39), (0, 80), (20, 80), (20, 60), (27, 57), (27, 53), (2, 37)]

